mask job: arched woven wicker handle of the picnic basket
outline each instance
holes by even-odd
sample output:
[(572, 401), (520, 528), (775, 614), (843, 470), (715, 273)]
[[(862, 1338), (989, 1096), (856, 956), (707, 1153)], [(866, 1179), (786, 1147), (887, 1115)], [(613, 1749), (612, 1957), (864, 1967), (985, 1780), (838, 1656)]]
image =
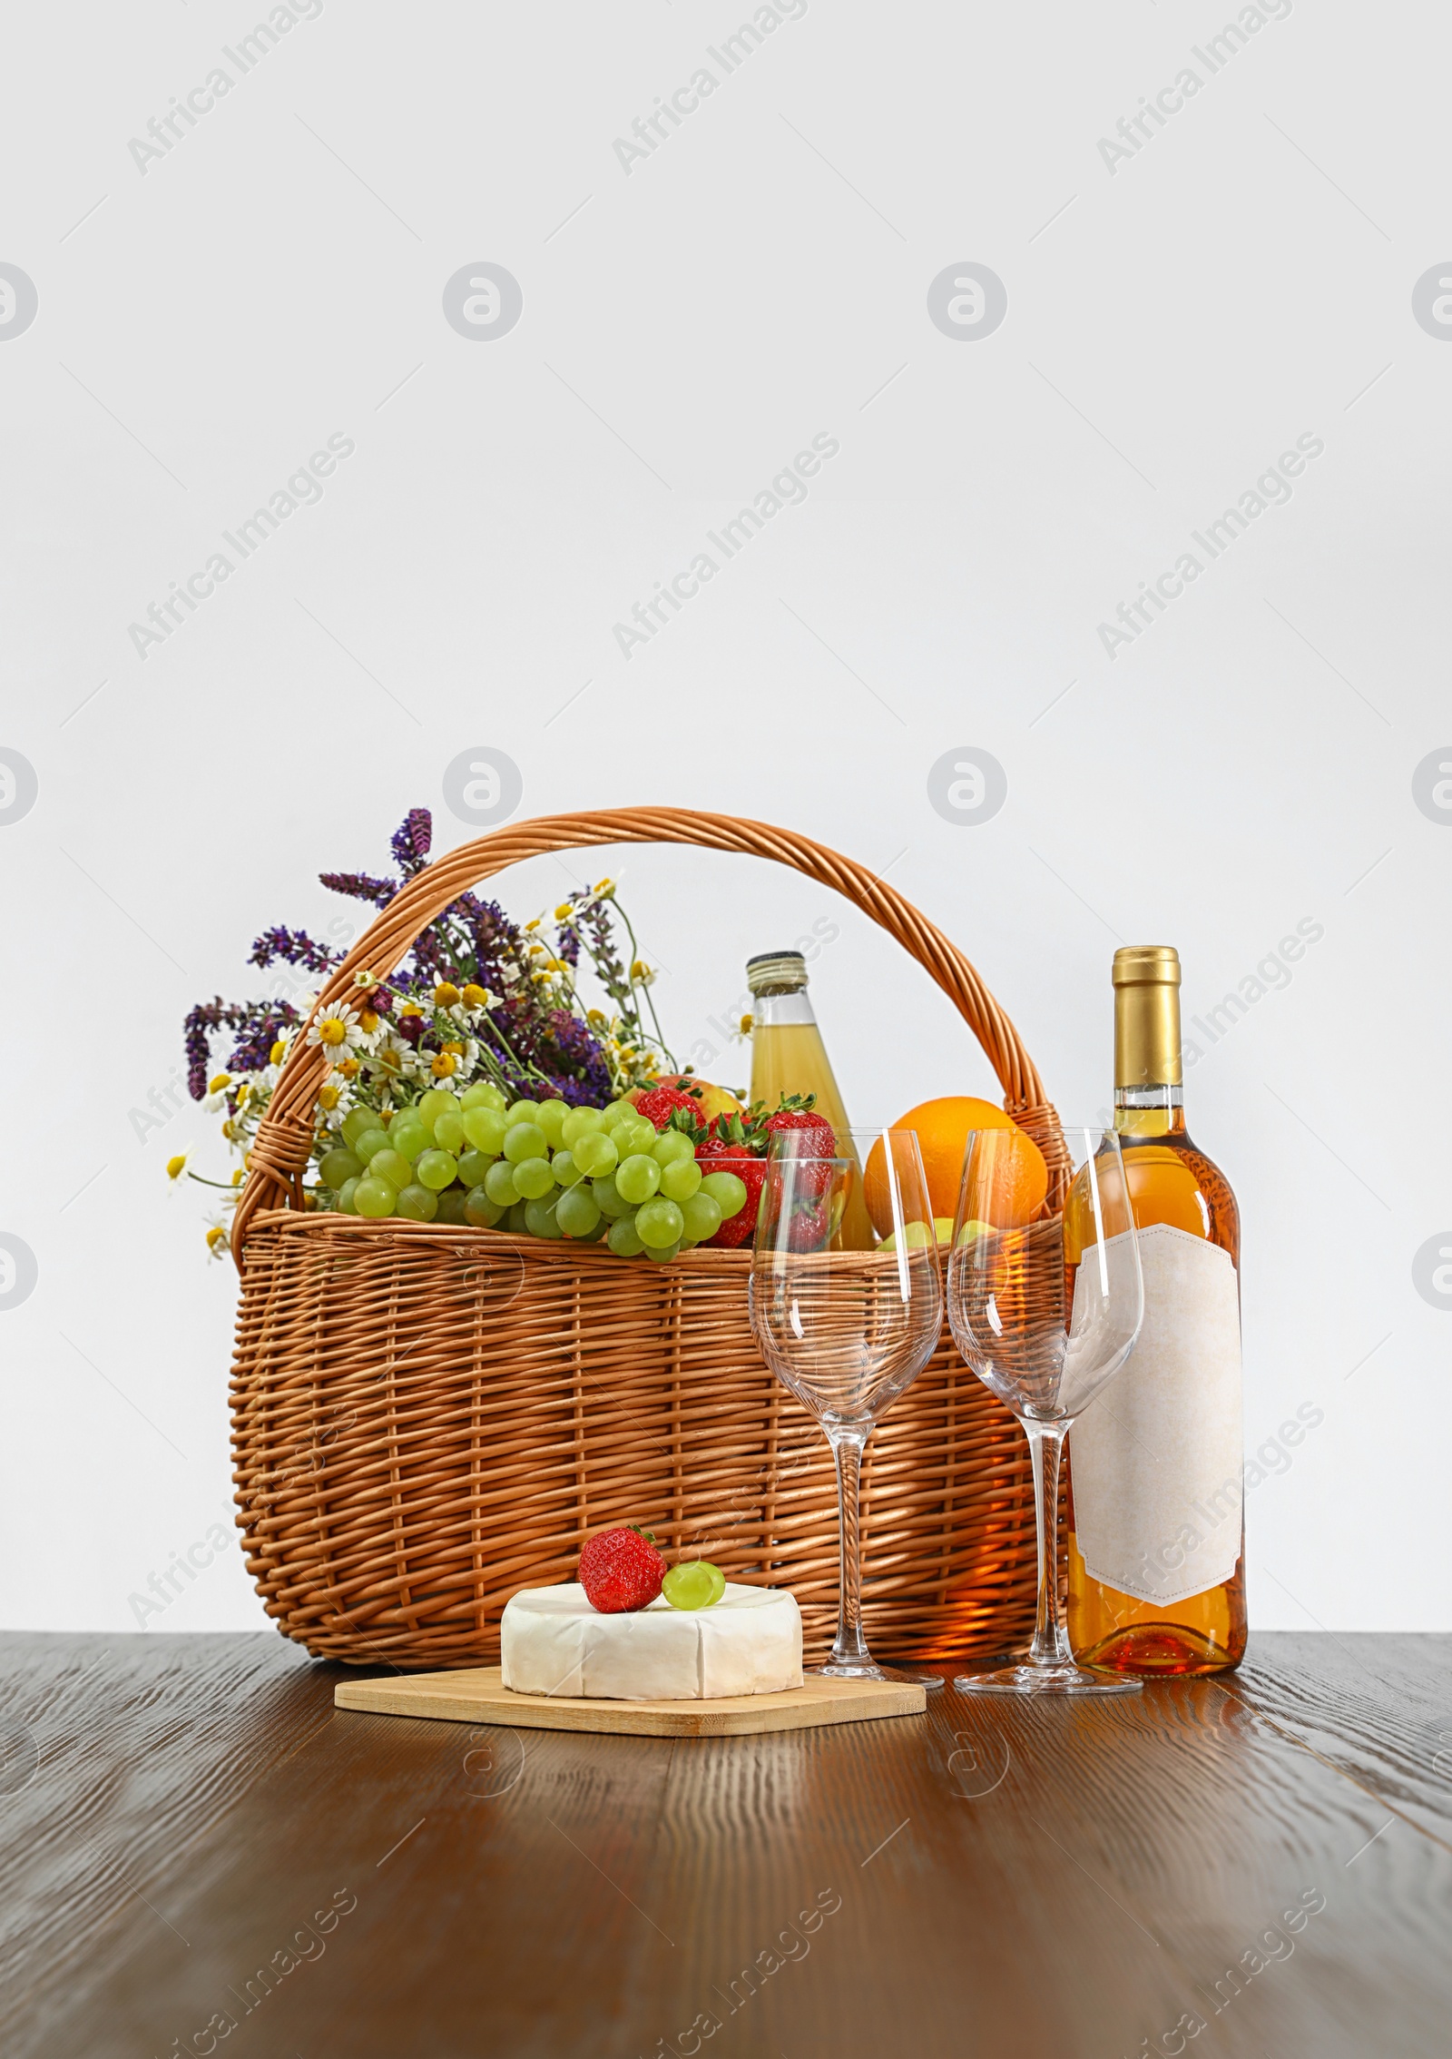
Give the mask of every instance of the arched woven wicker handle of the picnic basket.
[[(375, 972), (379, 980), (387, 980), (414, 947), (420, 931), (480, 879), (490, 879), (523, 859), (591, 844), (700, 844), (704, 850), (739, 850), (754, 859), (791, 865), (807, 879), (816, 879), (818, 885), (844, 894), (890, 937), (896, 937), (910, 957), (917, 957), (978, 1038), (989, 1065), (999, 1075), (1007, 1114), (1030, 1130), (1048, 1157), (1050, 1200), (1057, 1198), (1063, 1182), (1059, 1116), (1044, 1102), (1044, 1085), (1017, 1030), (958, 945), (949, 943), (941, 929), (919, 914), (912, 902), (869, 873), (865, 865), (816, 844), (809, 836), (776, 830), (768, 822), (704, 815), (688, 807), (628, 807), (585, 815), (538, 815), (533, 822), (490, 830), (488, 836), (476, 836), (414, 873), (332, 972), (317, 999), (317, 1009), (346, 1001), (354, 992), (352, 976), (362, 968)], [(297, 1038), (268, 1112), (257, 1124), (247, 1186), (233, 1219), (231, 1242), (239, 1270), (247, 1225), (257, 1209), (303, 1205), (301, 1176), (313, 1147), (321, 1085), (321, 1050)]]

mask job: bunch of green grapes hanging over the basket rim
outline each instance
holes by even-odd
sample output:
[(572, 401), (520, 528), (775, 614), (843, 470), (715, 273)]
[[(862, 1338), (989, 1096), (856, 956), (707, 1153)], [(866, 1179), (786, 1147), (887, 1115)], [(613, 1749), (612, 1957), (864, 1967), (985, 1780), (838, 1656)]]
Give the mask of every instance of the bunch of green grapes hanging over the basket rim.
[(344, 1215), (470, 1223), (608, 1244), (665, 1264), (746, 1207), (733, 1172), (702, 1174), (690, 1137), (630, 1102), (511, 1102), (494, 1085), (430, 1087), (387, 1122), (354, 1108), (317, 1167)]

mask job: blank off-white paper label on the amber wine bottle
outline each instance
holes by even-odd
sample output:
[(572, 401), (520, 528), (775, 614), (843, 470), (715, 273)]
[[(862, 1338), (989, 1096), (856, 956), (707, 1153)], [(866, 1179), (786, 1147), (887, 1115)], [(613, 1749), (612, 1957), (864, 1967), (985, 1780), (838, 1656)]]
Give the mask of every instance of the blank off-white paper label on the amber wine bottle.
[(1240, 1293), (1230, 1252), (1168, 1223), (1139, 1231), (1139, 1342), (1069, 1431), (1073, 1520), (1094, 1579), (1172, 1604), (1240, 1559)]

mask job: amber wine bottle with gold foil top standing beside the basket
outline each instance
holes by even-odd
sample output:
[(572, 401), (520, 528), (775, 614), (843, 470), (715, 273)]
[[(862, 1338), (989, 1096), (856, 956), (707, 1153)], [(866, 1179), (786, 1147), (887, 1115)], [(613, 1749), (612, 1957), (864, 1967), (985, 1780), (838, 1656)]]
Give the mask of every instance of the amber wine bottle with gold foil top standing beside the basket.
[(1145, 1322), (1069, 1431), (1069, 1641), (1081, 1666), (1225, 1672), (1246, 1649), (1240, 1211), (1184, 1128), (1168, 945), (1114, 953), (1114, 1128)]

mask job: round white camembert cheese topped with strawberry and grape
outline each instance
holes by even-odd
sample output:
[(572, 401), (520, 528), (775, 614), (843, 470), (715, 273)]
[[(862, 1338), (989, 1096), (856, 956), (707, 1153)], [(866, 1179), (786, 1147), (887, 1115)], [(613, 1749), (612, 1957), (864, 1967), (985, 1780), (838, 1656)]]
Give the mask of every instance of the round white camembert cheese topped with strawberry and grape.
[(523, 1587), (500, 1625), (505, 1686), (517, 1695), (715, 1701), (801, 1686), (801, 1610), (783, 1587), (727, 1590), (715, 1608), (601, 1616), (575, 1581)]

